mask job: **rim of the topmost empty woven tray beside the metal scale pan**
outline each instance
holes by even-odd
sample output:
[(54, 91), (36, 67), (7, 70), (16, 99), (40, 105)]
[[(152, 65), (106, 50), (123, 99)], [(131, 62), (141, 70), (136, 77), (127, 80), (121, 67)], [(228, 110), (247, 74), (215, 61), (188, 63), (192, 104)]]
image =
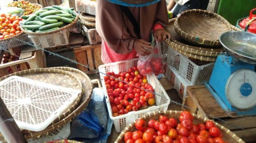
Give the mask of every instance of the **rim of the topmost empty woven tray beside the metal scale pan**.
[[(176, 31), (181, 37), (182, 37), (182, 35), (185, 35), (186, 37), (189, 37), (190, 39), (196, 38), (196, 39), (198, 39), (198, 40), (202, 40), (202, 41), (204, 41), (204, 42), (210, 43), (210, 44), (205, 44), (205, 43), (198, 43), (198, 42), (197, 42), (197, 43), (200, 44), (200, 45), (205, 45), (205, 46), (220, 46), (221, 44), (220, 44), (219, 39), (216, 39), (216, 40), (207, 40), (207, 39), (200, 38), (200, 37), (198, 37), (198, 36), (192, 36), (191, 34), (184, 32), (184, 31), (180, 28), (180, 26), (179, 26), (179, 24), (178, 24), (179, 19), (180, 19), (182, 16), (186, 15), (187, 13), (189, 13), (189, 12), (190, 12), (190, 13), (204, 13), (204, 14), (206, 13), (206, 14), (208, 14), (208, 15), (211, 15), (211, 16), (213, 16), (213, 17), (215, 17), (215, 18), (220, 19), (221, 21), (223, 21), (224, 24), (227, 25), (227, 28), (228, 28), (229, 30), (231, 30), (231, 27), (230, 27), (231, 24), (230, 24), (225, 18), (223, 18), (222, 16), (220, 16), (219, 14), (212, 13), (212, 12), (206, 11), (206, 10), (201, 10), (201, 9), (191, 9), (191, 10), (183, 11), (183, 12), (180, 14), (180, 16), (177, 17), (177, 20), (174, 22), (174, 29), (175, 29), (175, 31)], [(186, 40), (186, 41), (187, 41), (187, 40)], [(193, 41), (193, 40), (191, 40), (191, 41)], [(191, 41), (188, 41), (188, 42), (191, 43)], [(196, 42), (196, 41), (195, 41), (195, 42)]]

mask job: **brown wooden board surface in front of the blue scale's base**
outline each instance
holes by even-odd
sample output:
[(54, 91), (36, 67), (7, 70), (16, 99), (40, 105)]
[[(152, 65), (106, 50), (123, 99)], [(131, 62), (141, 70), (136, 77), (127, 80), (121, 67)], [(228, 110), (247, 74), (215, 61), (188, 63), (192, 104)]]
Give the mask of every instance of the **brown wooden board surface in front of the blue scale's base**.
[[(202, 86), (188, 86), (187, 92), (191, 95), (194, 102), (198, 105), (198, 109), (207, 114), (208, 118), (227, 118), (229, 117), (225, 111), (216, 102), (208, 89)], [(209, 104), (211, 103), (211, 104)], [(214, 110), (213, 110), (214, 109)]]

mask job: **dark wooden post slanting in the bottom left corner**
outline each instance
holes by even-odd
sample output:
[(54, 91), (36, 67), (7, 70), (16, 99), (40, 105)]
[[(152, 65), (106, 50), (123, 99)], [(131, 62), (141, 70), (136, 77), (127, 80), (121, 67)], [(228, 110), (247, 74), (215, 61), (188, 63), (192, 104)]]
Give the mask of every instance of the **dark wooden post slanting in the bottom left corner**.
[(20, 128), (18, 127), (16, 122), (14, 120), (7, 120), (13, 119), (13, 117), (11, 116), (11, 113), (8, 111), (7, 107), (5, 106), (2, 98), (0, 98), (0, 113), (0, 131), (4, 135), (6, 141), (8, 143), (27, 143), (27, 140), (20, 131)]

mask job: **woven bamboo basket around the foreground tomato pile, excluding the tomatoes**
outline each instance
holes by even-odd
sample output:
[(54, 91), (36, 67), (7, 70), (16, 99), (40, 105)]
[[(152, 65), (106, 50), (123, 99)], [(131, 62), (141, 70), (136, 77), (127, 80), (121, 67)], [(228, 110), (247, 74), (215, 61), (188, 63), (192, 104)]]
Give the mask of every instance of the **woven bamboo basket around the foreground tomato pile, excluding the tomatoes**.
[[(143, 117), (141, 119), (145, 120), (146, 122), (148, 122), (151, 119), (154, 120), (158, 120), (160, 115), (166, 115), (169, 118), (174, 117), (176, 119), (178, 119), (178, 117), (180, 116), (181, 111), (160, 111), (160, 112), (153, 112), (153, 113), (148, 113), (143, 115)], [(192, 114), (194, 116), (194, 121), (193, 123), (197, 124), (197, 123), (205, 123), (207, 120), (207, 118), (204, 118), (202, 116), (199, 115), (195, 115)], [(212, 121), (214, 122), (214, 121)], [(216, 127), (218, 127), (223, 134), (223, 139), (225, 141), (228, 141), (229, 143), (245, 143), (241, 138), (239, 138), (236, 134), (234, 134), (233, 132), (231, 132), (229, 129), (225, 128), (224, 126), (220, 125), (219, 123), (214, 122)], [(124, 143), (123, 141), (123, 136), (125, 132), (131, 132), (136, 130), (135, 128), (135, 121), (131, 124), (129, 124), (118, 136), (118, 138), (116, 139), (116, 141), (114, 143)]]

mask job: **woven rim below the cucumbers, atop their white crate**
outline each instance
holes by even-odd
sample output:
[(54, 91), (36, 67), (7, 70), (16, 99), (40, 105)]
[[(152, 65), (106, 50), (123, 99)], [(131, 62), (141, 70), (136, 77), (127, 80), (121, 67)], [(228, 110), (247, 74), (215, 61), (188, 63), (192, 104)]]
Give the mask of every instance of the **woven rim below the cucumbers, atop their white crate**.
[(72, 23), (69, 23), (68, 25), (66, 25), (66, 26), (64, 26), (64, 27), (62, 27), (62, 28), (60, 28), (60, 29), (53, 30), (53, 31), (49, 31), (49, 32), (41, 32), (41, 33), (28, 32), (28, 31), (26, 31), (25, 29), (23, 29), (22, 26), (20, 26), (20, 29), (21, 29), (23, 32), (25, 32), (25, 33), (27, 33), (27, 34), (29, 34), (29, 35), (46, 35), (46, 34), (52, 34), (52, 33), (56, 33), (56, 32), (60, 32), (60, 31), (66, 30), (66, 29), (68, 29), (69, 27), (73, 26), (73, 25), (77, 22), (78, 17), (79, 17), (79, 16), (78, 16), (78, 14), (76, 13), (76, 18), (74, 19), (74, 21), (73, 21)]

